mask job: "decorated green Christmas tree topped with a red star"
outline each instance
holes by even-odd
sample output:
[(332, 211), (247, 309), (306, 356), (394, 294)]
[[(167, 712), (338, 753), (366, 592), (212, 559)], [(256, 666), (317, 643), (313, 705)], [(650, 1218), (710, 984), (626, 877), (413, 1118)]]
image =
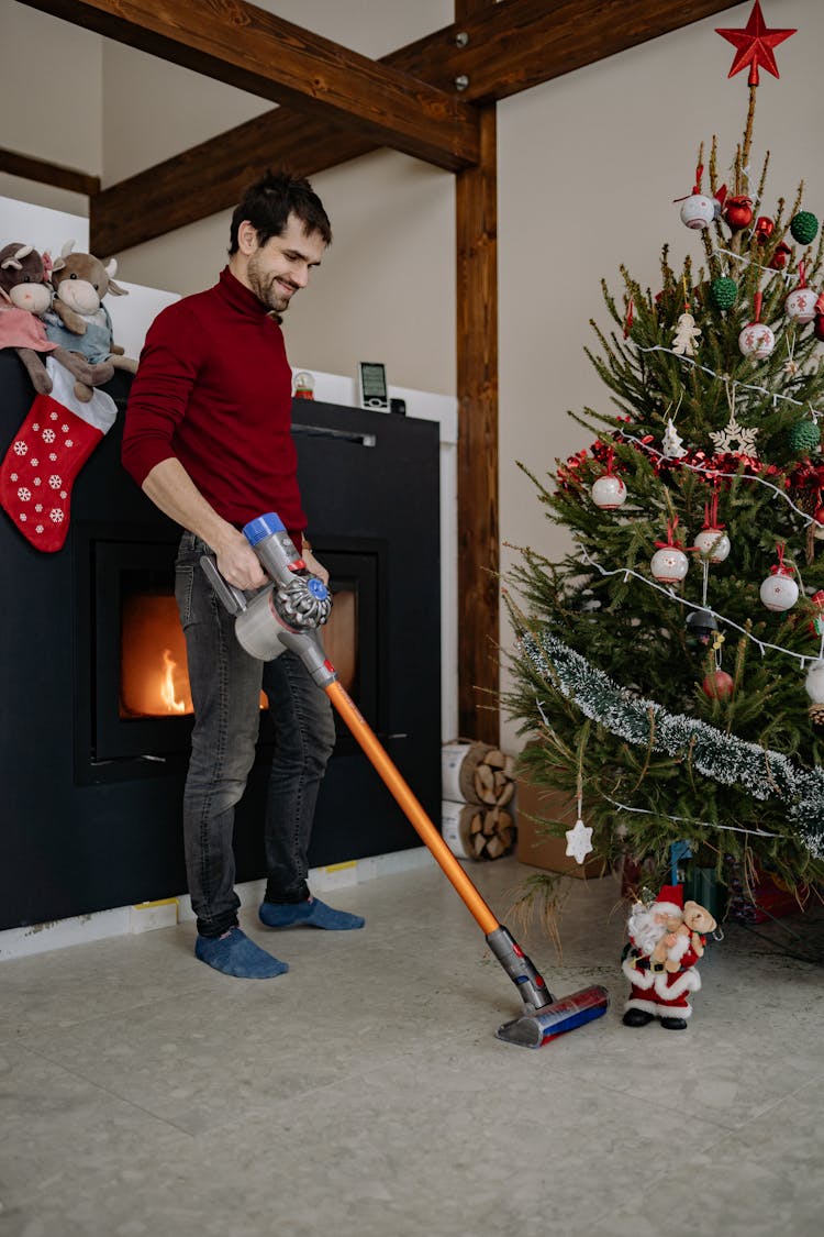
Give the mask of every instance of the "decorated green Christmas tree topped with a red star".
[(692, 856), (803, 899), (824, 877), (823, 245), (803, 183), (772, 203), (768, 152), (751, 169), (759, 69), (794, 31), (756, 2), (719, 33), (749, 110), (729, 172), (713, 139), (679, 199), (693, 252), (677, 270), (665, 246), (656, 289), (603, 285), (612, 409), (570, 413), (597, 437), (549, 480), (524, 469), (573, 549), (511, 573), (507, 705), (530, 779), (577, 803), (570, 854), (650, 884)]

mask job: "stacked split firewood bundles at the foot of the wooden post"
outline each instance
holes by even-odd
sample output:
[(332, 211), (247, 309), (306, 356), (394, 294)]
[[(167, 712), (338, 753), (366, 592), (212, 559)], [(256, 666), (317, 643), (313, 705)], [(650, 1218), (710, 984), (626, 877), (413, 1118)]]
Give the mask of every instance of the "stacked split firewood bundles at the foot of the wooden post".
[(442, 833), (458, 858), (500, 858), (515, 844), (507, 804), (515, 793), (514, 757), (488, 743), (444, 746)]

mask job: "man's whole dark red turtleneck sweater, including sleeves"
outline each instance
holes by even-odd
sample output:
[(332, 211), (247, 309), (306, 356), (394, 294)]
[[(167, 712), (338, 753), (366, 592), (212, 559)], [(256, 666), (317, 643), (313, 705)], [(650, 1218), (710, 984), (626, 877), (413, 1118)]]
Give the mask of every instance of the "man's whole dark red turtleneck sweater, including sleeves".
[(305, 529), (283, 334), (229, 267), (163, 309), (146, 336), (122, 460), (142, 485), (169, 458), (230, 523), (274, 511), (290, 532)]

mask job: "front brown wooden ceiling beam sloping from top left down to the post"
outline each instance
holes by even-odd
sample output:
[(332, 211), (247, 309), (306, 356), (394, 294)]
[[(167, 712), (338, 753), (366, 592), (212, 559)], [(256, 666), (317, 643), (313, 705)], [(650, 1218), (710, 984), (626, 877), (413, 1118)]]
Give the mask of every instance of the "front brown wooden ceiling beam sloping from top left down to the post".
[(453, 87), (440, 90), (246, 0), (22, 2), (436, 167), (478, 161), (478, 116)]

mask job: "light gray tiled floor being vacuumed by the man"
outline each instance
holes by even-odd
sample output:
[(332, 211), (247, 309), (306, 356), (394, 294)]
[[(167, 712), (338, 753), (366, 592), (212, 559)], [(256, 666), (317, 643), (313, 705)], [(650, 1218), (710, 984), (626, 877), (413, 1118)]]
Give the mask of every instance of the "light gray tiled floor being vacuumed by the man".
[[(507, 920), (529, 870), (471, 871)], [(820, 959), (820, 917), (730, 929), (689, 1028), (631, 1030), (618, 888), (570, 886), (563, 965), (515, 935), (613, 1004), (537, 1051), (434, 865), (330, 897), (363, 931), (243, 912), (271, 981), (191, 924), (0, 964), (1, 1237), (819, 1237), (824, 971), (776, 949)]]

